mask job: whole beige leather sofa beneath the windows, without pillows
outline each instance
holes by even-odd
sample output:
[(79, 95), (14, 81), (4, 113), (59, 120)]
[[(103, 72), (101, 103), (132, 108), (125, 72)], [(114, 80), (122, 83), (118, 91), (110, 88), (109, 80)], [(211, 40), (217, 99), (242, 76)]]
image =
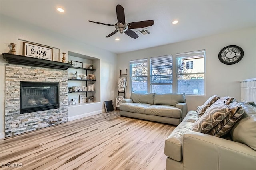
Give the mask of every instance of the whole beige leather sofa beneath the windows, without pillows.
[(122, 100), (120, 115), (178, 125), (186, 116), (185, 94), (131, 93)]

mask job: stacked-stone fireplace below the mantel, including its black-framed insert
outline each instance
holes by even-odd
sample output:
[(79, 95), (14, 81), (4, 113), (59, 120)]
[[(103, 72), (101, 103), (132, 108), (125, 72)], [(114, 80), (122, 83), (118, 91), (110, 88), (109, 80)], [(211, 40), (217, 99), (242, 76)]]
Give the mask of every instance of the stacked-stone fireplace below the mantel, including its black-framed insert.
[[(33, 83), (34, 91), (28, 91), (27, 87), (21, 84)], [(23, 111), (30, 105), (46, 107), (55, 95), (57, 87), (50, 87), (50, 84), (58, 85), (58, 100), (53, 105), (55, 108), (42, 110)], [(46, 85), (46, 86), (45, 86)], [(6, 64), (5, 66), (5, 137), (14, 136), (39, 128), (44, 128), (68, 120), (68, 71), (61, 69), (43, 68), (36, 66)], [(36, 91), (38, 89), (38, 91)], [(41, 89), (41, 90), (39, 90)], [(22, 91), (21, 91), (22, 90)], [(41, 94), (40, 94), (41, 93)], [(21, 95), (24, 95), (22, 98)], [(27, 95), (27, 96), (26, 96)], [(34, 97), (32, 97), (34, 95)], [(26, 103), (31, 100), (30, 104)], [(20, 101), (22, 99), (22, 101)], [(26, 105), (24, 105), (24, 102)], [(52, 101), (51, 101), (52, 102)], [(58, 103), (56, 103), (58, 102)], [(34, 104), (33, 104), (34, 103)], [(23, 106), (22, 106), (23, 105)]]

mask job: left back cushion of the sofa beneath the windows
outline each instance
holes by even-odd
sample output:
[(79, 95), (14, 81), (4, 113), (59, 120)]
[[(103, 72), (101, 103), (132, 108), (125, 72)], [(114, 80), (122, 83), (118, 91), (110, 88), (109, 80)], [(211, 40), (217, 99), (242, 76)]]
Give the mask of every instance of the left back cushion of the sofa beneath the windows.
[(153, 105), (155, 93), (131, 93), (133, 103), (147, 103)]

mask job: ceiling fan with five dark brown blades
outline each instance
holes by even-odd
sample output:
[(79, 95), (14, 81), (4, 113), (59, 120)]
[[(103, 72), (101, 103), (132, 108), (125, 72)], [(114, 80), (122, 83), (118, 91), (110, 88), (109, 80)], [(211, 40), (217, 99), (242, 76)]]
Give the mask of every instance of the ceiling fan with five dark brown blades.
[(105, 23), (95, 22), (95, 21), (89, 21), (89, 22), (93, 22), (96, 24), (102, 24), (102, 25), (106, 25), (106, 26), (114, 26), (116, 28), (116, 30), (114, 30), (112, 33), (108, 34), (106, 37), (113, 36), (117, 32), (120, 32), (121, 34), (125, 33), (126, 35), (128, 35), (134, 39), (138, 38), (139, 36), (131, 29), (148, 27), (148, 26), (152, 26), (154, 24), (153, 20), (130, 22), (130, 23), (126, 24), (125, 17), (124, 17), (124, 8), (121, 5), (116, 6), (116, 16), (117, 16), (117, 20), (118, 20), (118, 22), (116, 24), (105, 24)]

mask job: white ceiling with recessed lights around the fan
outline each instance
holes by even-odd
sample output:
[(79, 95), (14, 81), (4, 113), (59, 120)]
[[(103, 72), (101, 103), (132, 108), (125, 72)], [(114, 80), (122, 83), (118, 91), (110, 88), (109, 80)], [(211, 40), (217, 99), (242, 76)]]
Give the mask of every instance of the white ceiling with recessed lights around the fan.
[[(130, 38), (88, 20), (116, 24), (116, 5), (124, 7), (126, 23), (154, 20), (150, 34)], [(75, 40), (125, 53), (256, 26), (256, 1), (162, 1), (162, 0), (1, 0), (1, 14), (29, 22)], [(65, 12), (56, 11), (57, 7)], [(173, 25), (173, 20), (179, 23)], [(138, 31), (141, 29), (133, 29)], [(120, 38), (119, 42), (115, 38)]]

